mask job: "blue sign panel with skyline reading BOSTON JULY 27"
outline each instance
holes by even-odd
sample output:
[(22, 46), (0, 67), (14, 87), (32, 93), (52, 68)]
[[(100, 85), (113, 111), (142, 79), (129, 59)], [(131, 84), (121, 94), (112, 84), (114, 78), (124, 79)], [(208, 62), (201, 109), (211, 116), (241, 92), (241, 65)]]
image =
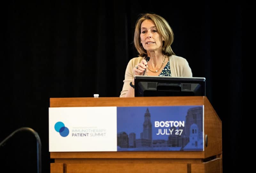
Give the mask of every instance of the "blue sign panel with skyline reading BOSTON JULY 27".
[(117, 107), (117, 151), (204, 151), (204, 106)]

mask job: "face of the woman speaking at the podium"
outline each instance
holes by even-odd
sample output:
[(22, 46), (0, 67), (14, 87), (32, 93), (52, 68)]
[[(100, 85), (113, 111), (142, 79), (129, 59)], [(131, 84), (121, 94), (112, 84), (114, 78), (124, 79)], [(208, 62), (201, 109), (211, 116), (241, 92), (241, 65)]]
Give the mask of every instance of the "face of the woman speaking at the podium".
[(140, 40), (147, 51), (162, 51), (163, 39), (152, 20), (144, 20), (140, 27)]

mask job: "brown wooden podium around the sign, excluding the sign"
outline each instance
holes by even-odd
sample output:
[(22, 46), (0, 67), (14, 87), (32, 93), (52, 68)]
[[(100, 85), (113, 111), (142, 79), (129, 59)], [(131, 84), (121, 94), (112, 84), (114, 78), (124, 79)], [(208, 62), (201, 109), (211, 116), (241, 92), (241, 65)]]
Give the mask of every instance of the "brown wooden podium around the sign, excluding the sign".
[(206, 97), (50, 98), (50, 107), (196, 105), (204, 105), (204, 151), (51, 152), (51, 173), (222, 173), (221, 120)]

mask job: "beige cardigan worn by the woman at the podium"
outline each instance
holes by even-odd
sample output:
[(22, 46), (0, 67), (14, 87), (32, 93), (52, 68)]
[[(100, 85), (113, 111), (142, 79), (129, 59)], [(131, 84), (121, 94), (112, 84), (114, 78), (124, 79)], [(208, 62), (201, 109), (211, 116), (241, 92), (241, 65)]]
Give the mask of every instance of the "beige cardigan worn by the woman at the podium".
[[(125, 95), (128, 89), (131, 87), (130, 82), (133, 80), (133, 68), (139, 64), (144, 57), (133, 58), (129, 61), (124, 75), (124, 85), (121, 91), (120, 97)], [(172, 55), (169, 56), (170, 68), (172, 77), (192, 77), (191, 68), (188, 65), (188, 61), (185, 58)]]

